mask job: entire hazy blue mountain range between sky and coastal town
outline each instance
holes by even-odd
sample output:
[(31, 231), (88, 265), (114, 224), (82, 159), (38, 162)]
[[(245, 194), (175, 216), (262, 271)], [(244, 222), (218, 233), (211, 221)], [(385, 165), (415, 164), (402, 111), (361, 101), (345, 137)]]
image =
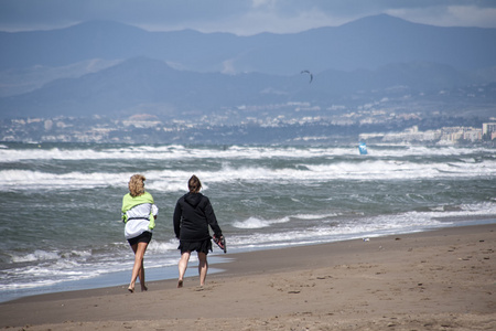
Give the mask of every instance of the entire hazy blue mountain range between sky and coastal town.
[[(489, 105), (496, 96), (496, 29), (438, 28), (384, 14), (252, 36), (91, 21), (1, 32), (0, 47), (1, 118), (176, 118), (302, 102), (353, 108), (409, 95), (432, 102), (440, 90), (461, 88), (482, 88)], [(311, 83), (304, 70), (313, 73)], [(460, 99), (451, 103), (460, 110)]]

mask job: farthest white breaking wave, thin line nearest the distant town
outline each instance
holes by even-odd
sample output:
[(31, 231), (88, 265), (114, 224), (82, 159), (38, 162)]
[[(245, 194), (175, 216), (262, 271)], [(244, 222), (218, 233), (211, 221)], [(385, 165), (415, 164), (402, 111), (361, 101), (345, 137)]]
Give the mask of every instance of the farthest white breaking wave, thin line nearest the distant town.
[[(492, 154), (494, 149), (464, 147), (409, 146), (368, 148), (368, 157), (455, 157), (470, 154)], [(191, 159), (312, 159), (333, 157), (358, 157), (357, 146), (347, 147), (255, 147), (230, 146), (185, 147), (185, 146), (126, 146), (120, 148), (0, 148), (0, 163), (25, 160), (191, 160)], [(364, 156), (362, 156), (364, 157)], [(365, 157), (367, 158), (367, 157)]]

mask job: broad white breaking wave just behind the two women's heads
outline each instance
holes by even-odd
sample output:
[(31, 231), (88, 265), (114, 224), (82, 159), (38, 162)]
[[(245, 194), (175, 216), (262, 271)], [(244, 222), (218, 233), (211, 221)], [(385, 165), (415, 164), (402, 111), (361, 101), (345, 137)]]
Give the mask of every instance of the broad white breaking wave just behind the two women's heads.
[[(272, 169), (268, 167), (223, 167), (219, 170), (196, 171), (205, 183), (227, 182), (284, 182), (311, 184), (331, 180), (416, 180), (441, 178), (493, 178), (496, 175), (496, 161), (485, 160), (481, 163), (413, 163), (397, 164), (389, 161), (369, 161), (362, 163), (338, 162), (330, 164), (306, 164), (308, 170), (291, 168)], [(143, 172), (148, 178), (147, 188), (163, 192), (185, 191), (187, 179), (193, 172), (184, 170), (154, 170)], [(127, 186), (133, 172), (67, 172), (51, 173), (32, 170), (1, 170), (0, 182), (4, 190), (80, 190), (96, 188)]]

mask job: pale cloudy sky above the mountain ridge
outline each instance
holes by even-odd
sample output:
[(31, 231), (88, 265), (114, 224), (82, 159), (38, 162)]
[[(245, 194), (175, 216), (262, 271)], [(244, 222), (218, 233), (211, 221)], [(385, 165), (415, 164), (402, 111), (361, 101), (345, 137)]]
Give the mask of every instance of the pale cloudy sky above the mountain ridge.
[(111, 20), (149, 31), (252, 35), (337, 26), (380, 13), (438, 26), (496, 28), (496, 0), (0, 0), (0, 31)]

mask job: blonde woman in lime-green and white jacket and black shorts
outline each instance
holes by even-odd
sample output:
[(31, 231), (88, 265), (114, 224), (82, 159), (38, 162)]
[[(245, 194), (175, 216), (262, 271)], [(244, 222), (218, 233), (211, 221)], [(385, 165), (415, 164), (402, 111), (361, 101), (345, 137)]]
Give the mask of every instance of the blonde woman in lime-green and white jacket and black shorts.
[(131, 282), (128, 290), (134, 292), (136, 279), (140, 279), (141, 291), (148, 290), (144, 282), (144, 252), (150, 244), (159, 209), (153, 196), (144, 191), (145, 178), (134, 174), (129, 180), (129, 193), (122, 197), (122, 222), (125, 237), (134, 252), (134, 266), (132, 267)]

